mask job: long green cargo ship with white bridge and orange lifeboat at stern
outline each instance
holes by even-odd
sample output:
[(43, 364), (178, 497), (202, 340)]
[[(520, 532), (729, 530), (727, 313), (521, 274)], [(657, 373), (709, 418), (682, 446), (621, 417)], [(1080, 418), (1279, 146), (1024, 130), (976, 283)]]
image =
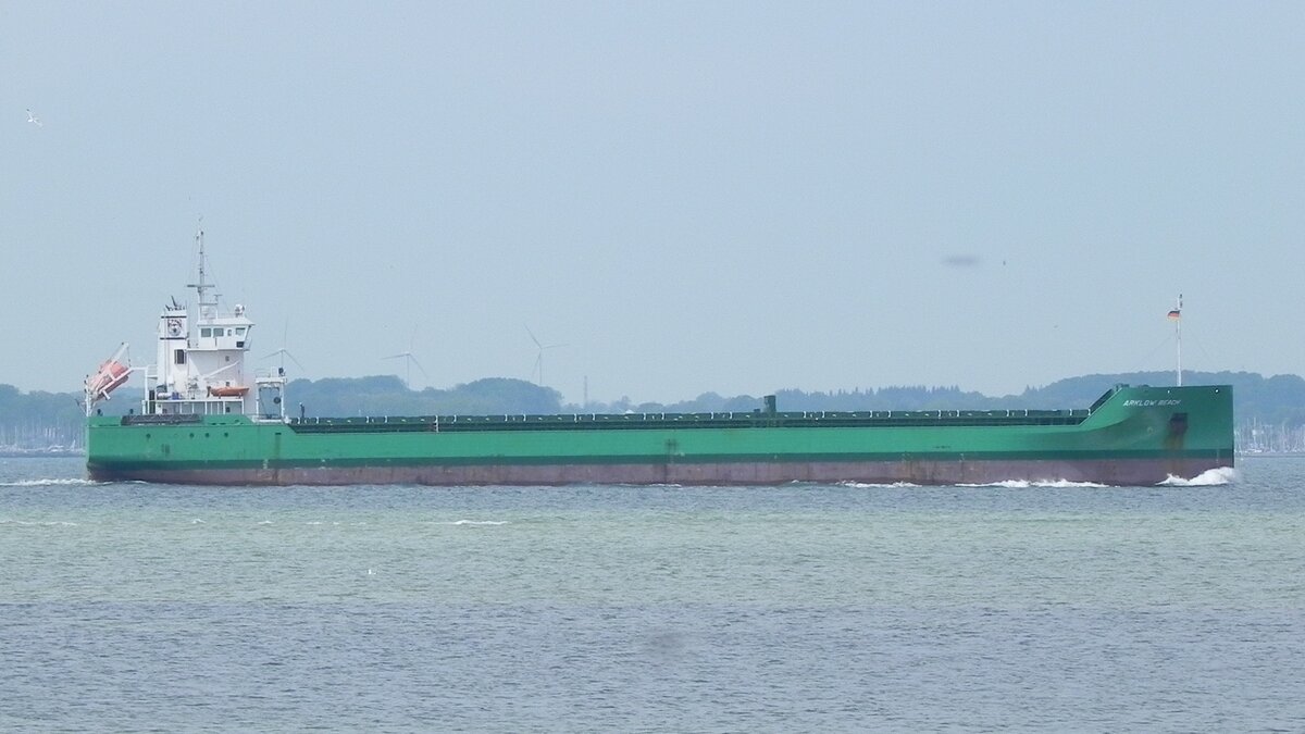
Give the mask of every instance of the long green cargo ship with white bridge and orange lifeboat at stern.
[(1117, 385), (1074, 410), (779, 411), (291, 418), (286, 376), (248, 372), (253, 323), (219, 315), (200, 277), (192, 313), (159, 319), (140, 414), (94, 405), (132, 370), (86, 383), (87, 473), (194, 485), (1155, 485), (1233, 466), (1232, 388)]

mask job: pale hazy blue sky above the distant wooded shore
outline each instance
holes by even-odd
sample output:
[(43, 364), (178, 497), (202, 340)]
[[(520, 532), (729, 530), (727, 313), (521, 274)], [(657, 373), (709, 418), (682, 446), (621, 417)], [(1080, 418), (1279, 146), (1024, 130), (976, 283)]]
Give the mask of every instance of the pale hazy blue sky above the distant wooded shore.
[[(0, 4), (0, 383), (579, 402), (1305, 372), (1300, 3)], [(39, 120), (29, 121), (27, 110)], [(201, 222), (202, 217), (202, 222)], [(301, 367), (300, 367), (301, 366)], [(587, 388), (586, 388), (587, 385)]]

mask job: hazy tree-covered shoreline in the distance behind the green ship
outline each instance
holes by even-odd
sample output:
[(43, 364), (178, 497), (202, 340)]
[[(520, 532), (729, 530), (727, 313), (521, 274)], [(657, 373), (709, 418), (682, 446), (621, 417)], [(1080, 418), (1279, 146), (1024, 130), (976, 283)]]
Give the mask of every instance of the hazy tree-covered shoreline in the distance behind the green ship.
[[(1001, 410), (1087, 407), (1116, 384), (1172, 385), (1172, 372), (1084, 375), (1057, 380), (1019, 394), (990, 397), (958, 387), (887, 387), (852, 391), (775, 391), (782, 411), (797, 410)], [(1185, 384), (1233, 387), (1238, 448), (1246, 451), (1305, 451), (1305, 379), (1265, 377), (1254, 372), (1185, 372)], [(722, 396), (714, 392), (672, 404), (568, 404), (557, 391), (525, 380), (487, 377), (452, 388), (408, 389), (392, 375), (294, 380), (286, 391), (291, 417), (350, 415), (495, 415), (552, 413), (749, 413), (762, 407), (761, 396)], [(76, 449), (84, 441), (84, 409), (77, 393), (23, 393), (0, 384), (0, 451)], [(100, 404), (106, 415), (140, 407), (141, 391), (123, 388)]]

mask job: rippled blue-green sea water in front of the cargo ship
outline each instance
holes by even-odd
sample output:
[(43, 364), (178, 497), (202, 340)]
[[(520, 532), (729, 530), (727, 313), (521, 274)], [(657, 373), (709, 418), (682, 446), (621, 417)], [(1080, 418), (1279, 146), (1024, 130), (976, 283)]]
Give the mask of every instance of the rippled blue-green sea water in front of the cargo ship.
[(1305, 460), (191, 487), (0, 460), (4, 731), (1301, 731)]

